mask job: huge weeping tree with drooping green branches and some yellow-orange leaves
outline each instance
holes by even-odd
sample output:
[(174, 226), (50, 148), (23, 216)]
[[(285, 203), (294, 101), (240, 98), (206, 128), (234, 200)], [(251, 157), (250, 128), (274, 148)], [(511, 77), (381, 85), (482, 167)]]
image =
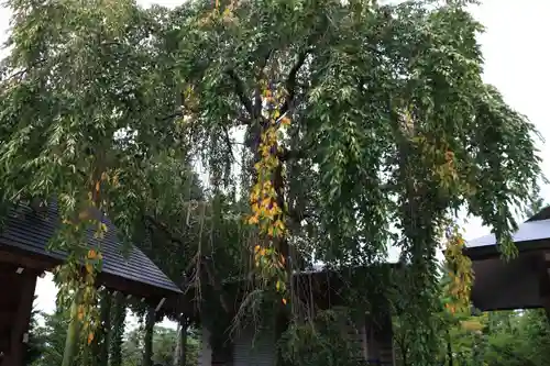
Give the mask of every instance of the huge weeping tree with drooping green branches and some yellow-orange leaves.
[[(373, 265), (397, 245), (408, 264), (399, 317), (416, 332), (410, 362), (432, 365), (436, 251), (448, 219), (459, 209), (481, 217), (514, 255), (512, 213), (540, 173), (534, 126), (481, 78), (483, 27), (468, 2), (194, 0), (143, 10), (11, 0), (3, 199), (58, 201), (54, 244), (70, 255), (56, 278), (90, 288), (100, 258), (81, 249), (78, 233), (105, 231), (91, 208), (129, 240), (147, 207), (147, 166), (190, 158), (208, 176), (202, 212), (211, 228), (226, 225), (210, 243), (234, 239), (193, 257), (196, 278), (211, 285), (205, 295), (219, 299), (201, 311), (227, 308), (220, 278), (250, 275), (243, 303), (265, 295), (277, 339), (288, 336), (304, 319), (293, 269)], [(165, 198), (169, 210), (188, 207)], [(81, 258), (96, 260), (91, 278), (75, 274)], [(468, 296), (466, 269), (455, 268), (457, 298)], [(84, 301), (85, 339), (95, 301)]]

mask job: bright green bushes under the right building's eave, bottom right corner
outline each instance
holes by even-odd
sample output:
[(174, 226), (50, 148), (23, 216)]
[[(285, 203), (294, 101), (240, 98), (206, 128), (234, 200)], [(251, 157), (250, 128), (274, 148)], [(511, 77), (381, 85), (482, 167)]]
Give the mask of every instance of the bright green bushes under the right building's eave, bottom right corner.
[[(451, 312), (441, 280), (441, 306), (435, 317), (439, 352), (435, 357), (442, 365), (453, 366), (542, 366), (550, 352), (550, 322), (542, 309), (471, 313)], [(394, 320), (394, 345), (398, 366), (416, 365), (410, 359), (416, 331)]]

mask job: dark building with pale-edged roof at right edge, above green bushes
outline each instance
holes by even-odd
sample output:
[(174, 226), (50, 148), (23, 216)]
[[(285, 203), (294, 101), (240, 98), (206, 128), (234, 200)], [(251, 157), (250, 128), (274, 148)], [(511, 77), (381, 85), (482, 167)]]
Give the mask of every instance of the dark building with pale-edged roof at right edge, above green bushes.
[(550, 208), (518, 226), (514, 234), (519, 255), (504, 260), (495, 235), (469, 241), (473, 306), (482, 311), (544, 308), (550, 315)]

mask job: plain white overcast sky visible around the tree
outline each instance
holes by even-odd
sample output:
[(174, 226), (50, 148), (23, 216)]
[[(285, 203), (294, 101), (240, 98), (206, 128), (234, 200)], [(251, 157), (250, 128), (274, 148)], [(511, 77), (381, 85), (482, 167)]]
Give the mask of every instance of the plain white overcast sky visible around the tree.
[[(183, 1), (163, 0), (138, 1), (150, 5), (177, 5)], [(519, 5), (520, 3), (520, 5)], [(496, 86), (506, 101), (526, 114), (537, 126), (546, 141), (550, 141), (550, 124), (546, 121), (548, 110), (546, 92), (550, 86), (547, 68), (547, 35), (550, 34), (550, 1), (547, 0), (482, 0), (480, 7), (472, 8), (473, 14), (486, 26), (480, 37), (485, 56), (486, 82)], [(9, 12), (0, 8), (0, 41), (6, 37)], [(1, 53), (0, 53), (1, 56)], [(550, 177), (550, 146), (540, 146), (542, 170)], [(550, 187), (543, 187), (542, 197), (549, 198)], [(480, 220), (470, 219), (463, 226), (466, 239), (474, 239), (490, 232)], [(56, 289), (51, 277), (38, 279), (36, 307), (51, 312), (55, 304)], [(130, 319), (135, 324), (135, 319)], [(162, 325), (174, 326), (168, 322)]]

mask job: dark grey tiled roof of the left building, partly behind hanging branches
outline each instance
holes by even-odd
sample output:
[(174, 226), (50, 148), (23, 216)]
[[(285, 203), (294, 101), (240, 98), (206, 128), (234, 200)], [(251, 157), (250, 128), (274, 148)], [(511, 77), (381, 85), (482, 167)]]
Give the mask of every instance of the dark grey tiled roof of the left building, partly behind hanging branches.
[[(94, 237), (94, 231), (88, 232), (90, 247), (100, 247), (103, 256), (102, 271), (124, 279), (141, 282), (175, 292), (180, 289), (135, 246), (131, 246), (128, 255), (122, 254), (122, 244), (117, 237), (117, 229), (107, 219), (108, 228), (102, 240)], [(6, 225), (0, 234), (0, 245), (10, 245), (23, 251), (45, 255), (55, 259), (64, 259), (62, 251), (48, 251), (50, 239), (59, 226), (59, 217), (55, 203), (50, 203), (46, 212), (36, 213), (28, 207), (11, 210)]]

